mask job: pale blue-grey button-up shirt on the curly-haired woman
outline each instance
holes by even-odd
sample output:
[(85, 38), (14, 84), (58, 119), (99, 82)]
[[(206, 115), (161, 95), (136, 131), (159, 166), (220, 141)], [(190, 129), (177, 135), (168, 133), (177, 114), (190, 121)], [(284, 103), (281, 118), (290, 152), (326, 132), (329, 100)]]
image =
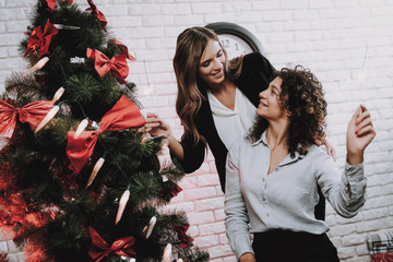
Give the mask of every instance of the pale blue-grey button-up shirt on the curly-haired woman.
[(362, 164), (337, 164), (324, 148), (312, 145), (307, 155), (289, 155), (267, 175), (270, 147), (266, 132), (251, 144), (239, 140), (226, 163), (225, 213), (227, 236), (237, 259), (253, 253), (251, 233), (281, 228), (323, 234), (329, 226), (314, 217), (319, 201), (317, 183), (333, 209), (344, 217), (355, 216), (366, 202)]

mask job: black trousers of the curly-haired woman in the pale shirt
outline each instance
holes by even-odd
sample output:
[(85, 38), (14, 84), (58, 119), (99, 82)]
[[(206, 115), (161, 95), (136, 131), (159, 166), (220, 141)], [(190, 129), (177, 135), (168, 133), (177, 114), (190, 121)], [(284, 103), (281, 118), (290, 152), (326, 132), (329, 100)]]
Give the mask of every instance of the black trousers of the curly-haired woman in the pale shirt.
[(340, 262), (326, 234), (282, 229), (255, 233), (252, 249), (257, 262)]

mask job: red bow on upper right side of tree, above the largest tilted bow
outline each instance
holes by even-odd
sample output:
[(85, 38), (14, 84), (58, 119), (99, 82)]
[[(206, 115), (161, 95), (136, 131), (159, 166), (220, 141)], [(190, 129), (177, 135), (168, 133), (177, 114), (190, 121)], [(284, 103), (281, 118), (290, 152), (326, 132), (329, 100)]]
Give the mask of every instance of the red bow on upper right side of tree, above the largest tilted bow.
[(94, 68), (99, 74), (104, 76), (106, 73), (110, 73), (116, 78), (119, 83), (126, 84), (126, 78), (129, 74), (129, 68), (126, 60), (126, 55), (112, 57), (110, 60), (107, 56), (98, 50), (92, 50), (87, 48), (86, 56), (90, 59), (94, 59)]

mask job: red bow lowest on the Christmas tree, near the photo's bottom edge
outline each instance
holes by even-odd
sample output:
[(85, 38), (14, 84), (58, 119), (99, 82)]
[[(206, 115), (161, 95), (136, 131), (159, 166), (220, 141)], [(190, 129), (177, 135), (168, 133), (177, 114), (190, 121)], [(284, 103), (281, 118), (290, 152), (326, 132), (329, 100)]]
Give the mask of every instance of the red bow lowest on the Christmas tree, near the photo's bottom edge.
[(92, 245), (88, 249), (88, 255), (96, 262), (100, 261), (105, 257), (115, 253), (117, 255), (124, 255), (131, 258), (136, 255), (136, 252), (132, 249), (132, 246), (135, 243), (134, 237), (123, 237), (115, 240), (115, 242), (109, 247), (109, 245), (98, 235), (96, 230), (92, 227), (88, 227), (88, 231), (92, 237)]

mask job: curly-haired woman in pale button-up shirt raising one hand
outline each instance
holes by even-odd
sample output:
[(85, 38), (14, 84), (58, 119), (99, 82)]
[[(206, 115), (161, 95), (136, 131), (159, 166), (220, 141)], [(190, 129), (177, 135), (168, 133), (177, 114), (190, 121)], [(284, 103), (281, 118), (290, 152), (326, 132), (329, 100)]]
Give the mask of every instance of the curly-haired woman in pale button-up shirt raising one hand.
[(241, 262), (340, 261), (325, 234), (326, 223), (313, 216), (317, 184), (340, 215), (358, 213), (366, 201), (364, 151), (376, 135), (370, 114), (359, 106), (349, 121), (341, 177), (332, 157), (314, 142), (325, 136), (321, 83), (299, 66), (274, 75), (260, 93), (252, 130), (227, 156), (225, 212), (230, 246)]

